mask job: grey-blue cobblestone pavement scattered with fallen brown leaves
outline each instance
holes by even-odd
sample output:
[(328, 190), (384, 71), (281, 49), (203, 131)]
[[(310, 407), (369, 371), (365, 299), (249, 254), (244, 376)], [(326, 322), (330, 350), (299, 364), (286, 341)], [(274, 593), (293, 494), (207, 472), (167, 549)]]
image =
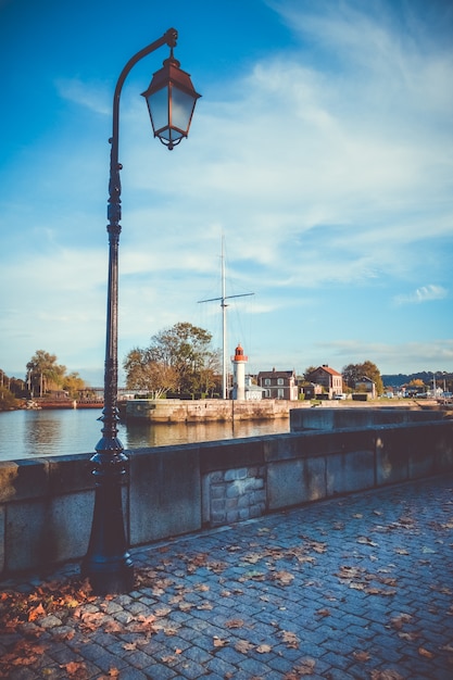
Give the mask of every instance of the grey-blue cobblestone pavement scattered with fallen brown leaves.
[[(429, 479), (135, 550), (134, 592), (77, 590), (7, 628), (0, 677), (450, 680), (452, 491)], [(54, 600), (77, 569), (46, 579)], [(45, 588), (1, 585), (3, 602)]]

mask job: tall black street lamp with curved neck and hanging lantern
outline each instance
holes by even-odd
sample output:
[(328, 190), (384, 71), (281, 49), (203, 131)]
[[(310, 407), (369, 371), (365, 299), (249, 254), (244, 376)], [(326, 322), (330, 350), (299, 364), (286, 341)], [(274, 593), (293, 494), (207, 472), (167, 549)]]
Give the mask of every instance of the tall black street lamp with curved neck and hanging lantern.
[(109, 282), (106, 301), (106, 338), (104, 366), (104, 407), (100, 420), (103, 424), (102, 438), (91, 457), (92, 474), (96, 479), (95, 509), (88, 552), (81, 564), (81, 574), (90, 581), (96, 594), (127, 592), (134, 585), (134, 565), (128, 552), (128, 543), (123, 517), (122, 479), (127, 470), (128, 457), (117, 438), (118, 432), (118, 244), (121, 234), (121, 180), (118, 163), (119, 96), (124, 81), (133, 66), (147, 54), (167, 45), (171, 54), (163, 68), (158, 71), (143, 96), (147, 99), (154, 137), (172, 150), (189, 134), (189, 127), (197, 99), (189, 74), (179, 68), (173, 55), (178, 34), (169, 28), (159, 40), (137, 52), (125, 67), (116, 83), (113, 97), (113, 133), (109, 140)]

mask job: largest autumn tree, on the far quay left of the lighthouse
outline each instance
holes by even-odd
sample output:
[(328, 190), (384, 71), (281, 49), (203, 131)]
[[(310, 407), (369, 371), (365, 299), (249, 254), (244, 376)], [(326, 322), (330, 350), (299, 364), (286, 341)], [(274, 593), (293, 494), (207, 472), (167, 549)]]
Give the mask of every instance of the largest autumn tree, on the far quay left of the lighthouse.
[(169, 390), (196, 393), (213, 386), (219, 368), (218, 352), (211, 349), (207, 330), (178, 323), (151, 338), (146, 349), (135, 348), (125, 361), (128, 389), (154, 395)]

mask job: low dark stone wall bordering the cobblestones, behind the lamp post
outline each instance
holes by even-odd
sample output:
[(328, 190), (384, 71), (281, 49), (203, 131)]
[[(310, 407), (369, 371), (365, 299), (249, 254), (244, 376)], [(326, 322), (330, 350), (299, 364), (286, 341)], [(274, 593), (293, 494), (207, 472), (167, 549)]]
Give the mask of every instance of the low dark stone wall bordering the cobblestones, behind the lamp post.
[[(292, 411), (286, 435), (129, 452), (123, 503), (130, 544), (453, 469), (448, 414), (348, 411)], [(95, 500), (89, 458), (0, 463), (2, 576), (84, 556)]]

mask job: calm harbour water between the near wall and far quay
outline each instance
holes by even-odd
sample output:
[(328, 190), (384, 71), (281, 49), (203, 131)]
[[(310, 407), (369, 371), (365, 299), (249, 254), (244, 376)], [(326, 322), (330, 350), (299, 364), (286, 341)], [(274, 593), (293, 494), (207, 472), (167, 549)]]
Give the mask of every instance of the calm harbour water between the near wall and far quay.
[[(0, 413), (0, 461), (93, 453), (101, 438), (100, 415), (97, 408)], [(139, 449), (279, 432), (289, 432), (288, 418), (235, 425), (122, 423), (118, 437), (125, 449)]]

